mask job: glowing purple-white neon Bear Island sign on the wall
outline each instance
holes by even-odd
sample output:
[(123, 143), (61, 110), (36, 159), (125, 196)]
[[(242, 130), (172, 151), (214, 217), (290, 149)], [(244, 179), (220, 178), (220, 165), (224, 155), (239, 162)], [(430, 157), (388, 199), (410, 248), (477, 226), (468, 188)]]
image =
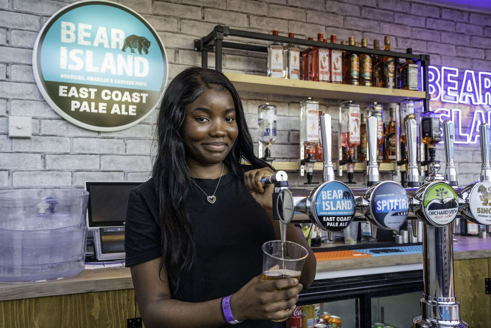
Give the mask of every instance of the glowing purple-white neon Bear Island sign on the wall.
[(430, 110), (454, 122), (456, 144), (476, 144), (479, 124), (491, 123), (491, 73), (429, 66), (428, 75)]

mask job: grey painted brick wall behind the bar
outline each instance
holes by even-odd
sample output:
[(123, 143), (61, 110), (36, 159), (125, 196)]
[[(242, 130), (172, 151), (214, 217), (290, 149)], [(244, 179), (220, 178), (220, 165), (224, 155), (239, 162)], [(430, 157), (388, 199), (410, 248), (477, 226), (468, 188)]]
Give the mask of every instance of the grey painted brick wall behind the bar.
[[(0, 185), (60, 184), (82, 186), (84, 180), (149, 178), (155, 115), (118, 132), (95, 132), (61, 119), (43, 100), (31, 66), (34, 40), (50, 15), (72, 0), (0, 0)], [(491, 70), (491, 14), (405, 0), (118, 0), (142, 14), (159, 32), (169, 57), (172, 79), (182, 69), (200, 64), (193, 40), (220, 23), (297, 37), (336, 33), (383, 42), (392, 48), (431, 54), (436, 65)], [(262, 43), (262, 42), (259, 42)], [(264, 44), (264, 42), (263, 42)], [(469, 48), (470, 47), (470, 48)], [(214, 56), (210, 54), (210, 67)], [(225, 50), (224, 71), (265, 74), (266, 56)], [(273, 155), (295, 161), (299, 149), (300, 97), (242, 92), (250, 132), (256, 138), (257, 105), (278, 106), (278, 141)], [(315, 97), (315, 94), (312, 95)], [(337, 126), (339, 101), (319, 99)], [(362, 107), (365, 105), (360, 104)], [(388, 114), (388, 113), (387, 113)], [(33, 137), (10, 139), (7, 117), (31, 116)], [(334, 134), (337, 139), (337, 133)], [(155, 148), (155, 147), (154, 147)], [(439, 147), (438, 147), (439, 148)], [(479, 174), (479, 149), (456, 146), (460, 182)], [(441, 149), (437, 157), (442, 158)], [(390, 179), (390, 174), (385, 174)], [(320, 177), (316, 177), (320, 180)], [(346, 178), (340, 178), (341, 180)], [(356, 179), (363, 181), (361, 174)], [(303, 180), (300, 181), (300, 183)]]

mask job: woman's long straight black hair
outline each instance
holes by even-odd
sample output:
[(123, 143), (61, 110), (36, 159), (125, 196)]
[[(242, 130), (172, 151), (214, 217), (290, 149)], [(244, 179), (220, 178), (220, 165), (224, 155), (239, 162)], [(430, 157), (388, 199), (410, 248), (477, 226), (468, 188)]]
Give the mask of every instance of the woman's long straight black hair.
[(190, 67), (169, 83), (157, 119), (155, 140), (158, 142), (158, 152), (152, 176), (159, 200), (162, 230), (159, 273), (165, 266), (169, 286), (176, 291), (180, 274), (192, 267), (196, 257), (193, 229), (185, 207), (191, 179), (181, 127), (186, 116), (186, 106), (206, 89), (228, 91), (234, 100), (239, 135), (223, 161), (231, 173), (237, 177), (243, 176), (242, 161), (271, 168), (254, 155), (241, 99), (225, 75), (213, 69)]

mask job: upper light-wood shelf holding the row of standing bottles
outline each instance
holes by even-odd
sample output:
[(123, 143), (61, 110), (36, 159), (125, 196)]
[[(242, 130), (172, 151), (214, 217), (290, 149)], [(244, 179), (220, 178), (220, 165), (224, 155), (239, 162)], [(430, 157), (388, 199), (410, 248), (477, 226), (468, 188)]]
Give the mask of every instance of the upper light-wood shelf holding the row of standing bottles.
[(224, 73), (235, 88), (241, 91), (287, 94), (293, 96), (330, 98), (340, 100), (400, 102), (406, 98), (419, 100), (426, 97), (424, 91), (351, 86), (303, 80), (279, 79), (267, 76)]

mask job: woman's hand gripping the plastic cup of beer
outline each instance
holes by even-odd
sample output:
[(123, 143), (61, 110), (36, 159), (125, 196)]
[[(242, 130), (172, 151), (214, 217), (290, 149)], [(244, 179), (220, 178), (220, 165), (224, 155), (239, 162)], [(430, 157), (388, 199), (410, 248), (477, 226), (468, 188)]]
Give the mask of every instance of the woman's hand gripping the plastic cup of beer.
[(235, 320), (281, 320), (295, 310), (303, 286), (297, 279), (262, 281), (262, 274), (252, 278), (230, 298)]

